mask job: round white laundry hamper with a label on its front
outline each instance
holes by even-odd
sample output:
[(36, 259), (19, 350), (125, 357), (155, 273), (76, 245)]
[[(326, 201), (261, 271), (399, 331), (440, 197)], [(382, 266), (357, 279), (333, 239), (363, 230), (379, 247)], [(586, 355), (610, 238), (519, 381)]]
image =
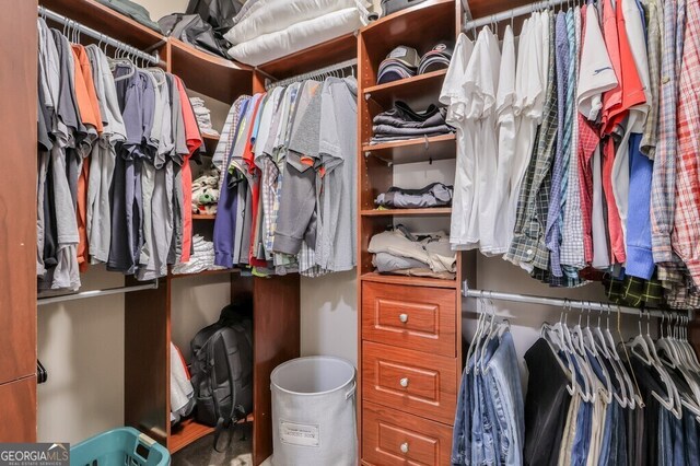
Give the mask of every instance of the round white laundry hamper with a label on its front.
[(355, 370), (340, 358), (298, 358), (270, 375), (275, 466), (355, 466)]

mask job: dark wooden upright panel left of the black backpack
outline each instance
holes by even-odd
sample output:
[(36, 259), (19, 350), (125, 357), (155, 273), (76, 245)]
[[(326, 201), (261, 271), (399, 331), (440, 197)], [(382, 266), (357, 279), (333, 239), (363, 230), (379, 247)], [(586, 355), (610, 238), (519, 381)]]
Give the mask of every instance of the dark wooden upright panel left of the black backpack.
[[(126, 284), (138, 284), (128, 277)], [(171, 281), (125, 295), (124, 422), (167, 446)]]

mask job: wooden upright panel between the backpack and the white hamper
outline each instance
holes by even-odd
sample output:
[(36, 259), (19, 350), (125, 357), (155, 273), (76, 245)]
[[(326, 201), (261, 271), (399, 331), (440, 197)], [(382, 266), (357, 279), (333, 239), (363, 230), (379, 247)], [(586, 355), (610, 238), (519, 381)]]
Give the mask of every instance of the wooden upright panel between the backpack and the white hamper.
[(234, 277), (253, 282), (253, 464), (272, 454), (272, 399), (270, 374), (301, 349), (300, 277)]

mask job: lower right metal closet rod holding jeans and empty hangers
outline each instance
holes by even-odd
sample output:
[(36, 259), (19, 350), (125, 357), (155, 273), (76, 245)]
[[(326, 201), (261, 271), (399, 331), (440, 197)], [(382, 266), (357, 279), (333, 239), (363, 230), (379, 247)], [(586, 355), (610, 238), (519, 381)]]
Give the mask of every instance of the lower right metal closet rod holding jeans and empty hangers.
[[(464, 282), (462, 294), (466, 298), (483, 298), (487, 300), (497, 300), (497, 301), (511, 301), (514, 303), (528, 303), (528, 304), (540, 304), (545, 306), (551, 307), (567, 307), (567, 308), (576, 308), (582, 311), (598, 311), (602, 313), (606, 313), (608, 311), (616, 313), (618, 310), (622, 314), (633, 314), (640, 315), (641, 310), (637, 307), (627, 307), (627, 306), (618, 306), (617, 304), (608, 304), (596, 301), (578, 301), (578, 300), (561, 300), (558, 298), (547, 298), (547, 296), (534, 296), (530, 294), (517, 294), (517, 293), (503, 293), (500, 291), (491, 291), (491, 290), (476, 290), (469, 289), (467, 287), (467, 282)], [(676, 313), (686, 313), (686, 311), (676, 311), (670, 310)], [(662, 317), (664, 315), (661, 311), (644, 311), (644, 314), (649, 314), (652, 317)], [(693, 318), (692, 310), (687, 311), (687, 315), (690, 319)]]

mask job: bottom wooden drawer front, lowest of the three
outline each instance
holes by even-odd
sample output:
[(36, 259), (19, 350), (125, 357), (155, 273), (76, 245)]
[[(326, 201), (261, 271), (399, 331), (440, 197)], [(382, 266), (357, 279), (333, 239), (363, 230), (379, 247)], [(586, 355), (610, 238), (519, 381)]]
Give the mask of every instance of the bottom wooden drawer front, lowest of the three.
[(363, 464), (376, 466), (451, 464), (451, 427), (372, 403), (365, 403), (363, 406)]

